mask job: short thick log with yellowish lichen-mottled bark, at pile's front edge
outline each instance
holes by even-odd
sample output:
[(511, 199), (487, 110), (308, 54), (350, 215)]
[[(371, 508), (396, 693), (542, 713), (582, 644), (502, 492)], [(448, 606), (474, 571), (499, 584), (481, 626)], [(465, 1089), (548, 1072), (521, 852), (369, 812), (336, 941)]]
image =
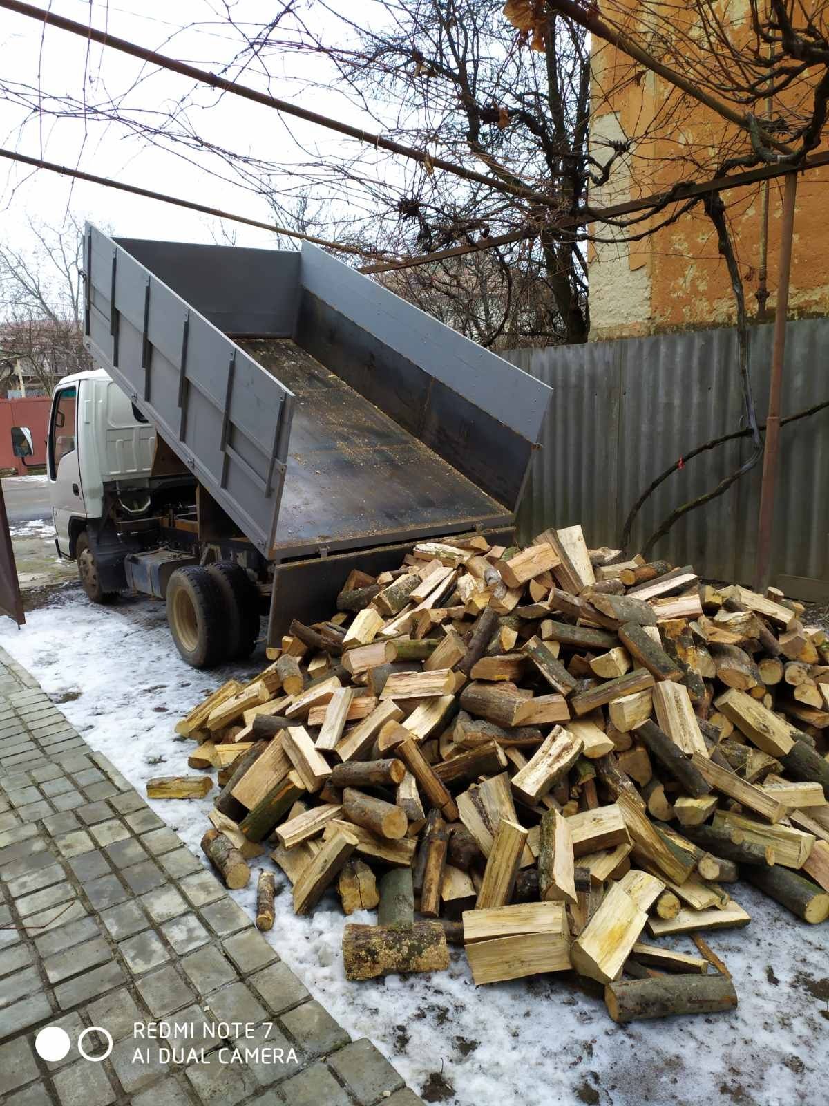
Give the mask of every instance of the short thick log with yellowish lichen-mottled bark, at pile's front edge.
[(357, 926), (343, 930), (346, 979), (376, 979), (390, 972), (444, 971), (449, 947), (439, 921), (412, 926)]

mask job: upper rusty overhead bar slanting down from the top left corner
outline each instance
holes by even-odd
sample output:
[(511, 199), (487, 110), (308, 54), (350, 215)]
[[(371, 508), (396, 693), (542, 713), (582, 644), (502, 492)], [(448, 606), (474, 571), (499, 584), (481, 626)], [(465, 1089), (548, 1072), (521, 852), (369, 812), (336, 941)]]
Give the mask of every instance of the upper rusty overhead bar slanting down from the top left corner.
[(348, 138), (356, 138), (357, 142), (364, 143), (367, 146), (374, 146), (375, 149), (386, 149), (391, 154), (411, 158), (414, 161), (419, 161), (429, 171), (441, 169), (464, 180), (472, 180), (479, 185), (485, 185), (487, 188), (495, 188), (499, 191), (506, 191), (512, 196), (532, 200), (534, 204), (556, 207), (560, 202), (556, 197), (545, 196), (534, 191), (532, 188), (525, 188), (523, 185), (512, 185), (508, 181), (487, 177), (483, 173), (466, 169), (464, 166), (447, 161), (442, 157), (432, 157), (428, 150), (414, 149), (413, 146), (405, 146), (401, 143), (393, 142), (391, 138), (384, 138), (381, 135), (371, 134), (360, 127), (353, 127), (340, 119), (333, 119), (327, 115), (321, 115), (318, 112), (309, 112), (307, 108), (292, 104), (287, 100), (279, 100), (266, 92), (259, 92), (256, 88), (248, 87), (248, 85), (237, 84), (235, 81), (217, 76), (216, 73), (210, 73), (208, 70), (199, 69), (196, 65), (188, 65), (187, 62), (180, 62), (175, 58), (168, 58), (166, 54), (159, 54), (155, 50), (147, 50), (145, 46), (139, 46), (135, 42), (128, 42), (126, 39), (119, 39), (106, 31), (97, 31), (95, 28), (78, 23), (74, 19), (66, 19), (63, 15), (56, 15), (54, 12), (44, 11), (42, 8), (34, 7), (34, 4), (21, 3), (19, 0), (0, 0), (0, 8), (17, 12), (19, 15), (36, 19), (38, 22), (45, 23), (46, 27), (69, 31), (71, 34), (76, 34), (86, 41), (97, 42), (102, 46), (119, 50), (122, 53), (149, 62), (151, 65), (170, 70), (172, 73), (178, 73), (181, 76), (188, 76), (200, 84), (207, 84), (211, 88), (221, 88), (223, 92), (232, 93), (234, 96), (242, 96), (244, 100), (253, 101), (255, 104), (275, 108), (285, 115), (294, 115), (296, 118), (305, 119), (306, 123), (313, 123), (328, 131), (335, 131), (337, 134), (346, 135)]

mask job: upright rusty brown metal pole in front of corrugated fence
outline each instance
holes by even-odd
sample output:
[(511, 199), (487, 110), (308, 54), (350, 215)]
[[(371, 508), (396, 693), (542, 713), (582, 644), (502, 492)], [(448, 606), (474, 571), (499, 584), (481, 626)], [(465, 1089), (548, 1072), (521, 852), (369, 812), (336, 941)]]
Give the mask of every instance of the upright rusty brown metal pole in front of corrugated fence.
[(783, 363), (786, 354), (786, 316), (788, 315), (789, 304), (789, 273), (791, 270), (791, 241), (795, 231), (796, 194), (797, 174), (789, 173), (783, 190), (775, 336), (772, 349), (772, 379), (768, 388), (766, 447), (763, 451), (760, 509), (757, 521), (757, 562), (754, 585), (758, 592), (765, 591), (768, 586), (768, 573), (772, 563), (772, 528), (774, 525), (775, 486), (777, 483), (777, 461), (780, 439), (780, 393), (783, 392)]

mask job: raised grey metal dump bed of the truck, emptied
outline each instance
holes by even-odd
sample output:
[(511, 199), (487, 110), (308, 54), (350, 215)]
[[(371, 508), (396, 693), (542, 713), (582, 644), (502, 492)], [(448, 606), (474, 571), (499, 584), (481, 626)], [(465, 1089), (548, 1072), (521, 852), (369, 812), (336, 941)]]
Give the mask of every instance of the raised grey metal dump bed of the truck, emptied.
[(86, 229), (86, 336), (276, 561), (511, 525), (550, 389), (314, 247)]

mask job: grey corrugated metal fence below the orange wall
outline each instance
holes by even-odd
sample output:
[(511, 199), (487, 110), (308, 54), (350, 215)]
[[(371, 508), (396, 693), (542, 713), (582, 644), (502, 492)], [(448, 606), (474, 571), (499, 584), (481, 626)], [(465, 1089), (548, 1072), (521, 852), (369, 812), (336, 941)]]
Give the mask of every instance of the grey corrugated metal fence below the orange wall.
[[(751, 335), (758, 421), (765, 421), (770, 324)], [(520, 511), (529, 538), (580, 522), (591, 545), (616, 545), (640, 492), (683, 452), (743, 425), (736, 333), (723, 328), (518, 349), (507, 361), (553, 388), (544, 448)], [(829, 320), (790, 323), (783, 415), (829, 399)], [(651, 495), (634, 524), (643, 542), (680, 503), (713, 488), (751, 452), (748, 439), (689, 461)], [(713, 578), (751, 583), (762, 463), (681, 519), (652, 555)], [(829, 408), (781, 430), (773, 578), (790, 595), (829, 598)]]

